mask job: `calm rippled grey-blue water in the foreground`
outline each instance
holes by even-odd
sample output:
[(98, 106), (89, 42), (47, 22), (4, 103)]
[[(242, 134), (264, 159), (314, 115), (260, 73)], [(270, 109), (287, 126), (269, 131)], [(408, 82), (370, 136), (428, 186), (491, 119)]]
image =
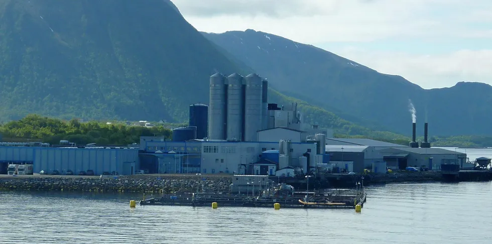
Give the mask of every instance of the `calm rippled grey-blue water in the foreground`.
[(368, 189), (353, 209), (137, 206), (135, 196), (0, 192), (2, 243), (490, 243), (492, 183)]

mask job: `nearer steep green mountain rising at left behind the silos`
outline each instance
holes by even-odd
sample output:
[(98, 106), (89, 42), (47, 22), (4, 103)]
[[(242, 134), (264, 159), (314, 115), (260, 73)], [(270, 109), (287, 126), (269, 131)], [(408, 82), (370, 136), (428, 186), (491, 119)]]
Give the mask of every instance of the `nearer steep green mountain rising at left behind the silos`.
[[(0, 121), (37, 113), (181, 122), (189, 104), (208, 103), (211, 74), (254, 71), (203, 37), (169, 0), (3, 0), (0, 30)], [(269, 94), (271, 102), (298, 102), (306, 121), (337, 133), (400, 137)]]

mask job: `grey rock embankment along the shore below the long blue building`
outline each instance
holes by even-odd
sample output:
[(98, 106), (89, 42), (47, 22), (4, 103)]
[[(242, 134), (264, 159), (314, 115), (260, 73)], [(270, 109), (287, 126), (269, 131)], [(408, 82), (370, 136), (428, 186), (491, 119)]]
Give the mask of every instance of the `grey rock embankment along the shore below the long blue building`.
[(229, 191), (230, 177), (119, 176), (96, 177), (12, 177), (0, 178), (0, 190), (79, 192), (194, 192), (197, 189)]

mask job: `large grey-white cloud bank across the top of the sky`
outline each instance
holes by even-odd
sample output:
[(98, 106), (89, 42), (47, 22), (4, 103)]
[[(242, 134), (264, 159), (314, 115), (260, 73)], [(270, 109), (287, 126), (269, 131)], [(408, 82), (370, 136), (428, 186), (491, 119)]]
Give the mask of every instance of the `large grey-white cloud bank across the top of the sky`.
[[(174, 0), (200, 31), (255, 29), (303, 43), (386, 38), (489, 38), (492, 1), (473, 0)], [(467, 19), (468, 18), (468, 19)], [(490, 19), (490, 17), (488, 17)], [(464, 21), (468, 20), (468, 22)], [(461, 22), (460, 22), (461, 21)], [(489, 22), (492, 26), (492, 21)]]

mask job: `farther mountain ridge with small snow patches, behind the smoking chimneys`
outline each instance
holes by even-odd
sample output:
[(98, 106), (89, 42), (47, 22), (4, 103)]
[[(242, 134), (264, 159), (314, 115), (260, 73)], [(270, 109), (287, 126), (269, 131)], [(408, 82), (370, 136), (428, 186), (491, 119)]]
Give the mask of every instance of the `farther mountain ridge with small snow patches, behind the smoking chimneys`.
[[(323, 49), (254, 30), (202, 33), (272, 87), (362, 125), (410, 135), (409, 99), (419, 134), (428, 119), (432, 135), (492, 135), (492, 86), (459, 82), (426, 90), (397, 75), (382, 74)], [(339, 112), (338, 112), (339, 111)], [(427, 114), (427, 115), (426, 115)]]

